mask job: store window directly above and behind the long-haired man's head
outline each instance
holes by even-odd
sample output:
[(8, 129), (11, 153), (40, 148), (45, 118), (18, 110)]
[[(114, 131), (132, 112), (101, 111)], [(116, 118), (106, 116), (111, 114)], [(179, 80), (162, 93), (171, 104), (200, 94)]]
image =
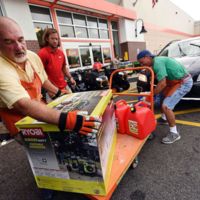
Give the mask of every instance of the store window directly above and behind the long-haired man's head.
[(42, 47), (42, 35), (46, 28), (53, 28), (51, 14), (48, 8), (30, 5), (31, 16), (35, 27), (40, 47)]

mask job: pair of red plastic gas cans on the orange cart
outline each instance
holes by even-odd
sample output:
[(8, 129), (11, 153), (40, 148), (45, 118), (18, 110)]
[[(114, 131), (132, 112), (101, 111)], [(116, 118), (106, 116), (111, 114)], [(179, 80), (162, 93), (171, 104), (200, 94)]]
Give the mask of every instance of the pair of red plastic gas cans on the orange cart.
[(115, 105), (119, 133), (144, 139), (155, 130), (154, 113), (145, 102), (140, 101), (135, 105), (129, 105), (125, 100), (119, 100)]

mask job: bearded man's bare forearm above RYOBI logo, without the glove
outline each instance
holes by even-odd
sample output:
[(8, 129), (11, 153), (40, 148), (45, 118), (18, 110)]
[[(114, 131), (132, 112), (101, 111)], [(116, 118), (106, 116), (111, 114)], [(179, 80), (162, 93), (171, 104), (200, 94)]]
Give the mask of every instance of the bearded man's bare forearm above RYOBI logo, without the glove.
[(47, 107), (47, 105), (41, 102), (23, 98), (17, 101), (13, 106), (17, 111), (25, 116), (28, 115), (39, 121), (58, 125), (60, 112)]

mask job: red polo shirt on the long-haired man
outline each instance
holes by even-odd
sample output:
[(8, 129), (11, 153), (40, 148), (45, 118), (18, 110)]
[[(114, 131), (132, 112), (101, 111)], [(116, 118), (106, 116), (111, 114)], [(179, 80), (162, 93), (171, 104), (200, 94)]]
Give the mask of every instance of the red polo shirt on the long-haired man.
[(38, 52), (49, 80), (59, 89), (64, 89), (67, 85), (63, 73), (66, 65), (65, 55), (60, 49), (53, 51), (50, 47), (44, 47)]

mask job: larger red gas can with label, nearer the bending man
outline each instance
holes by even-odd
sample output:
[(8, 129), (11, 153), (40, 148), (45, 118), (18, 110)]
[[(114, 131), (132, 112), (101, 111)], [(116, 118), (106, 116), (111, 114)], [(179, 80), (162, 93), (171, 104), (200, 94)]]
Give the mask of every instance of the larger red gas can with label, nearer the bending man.
[(126, 133), (144, 139), (156, 128), (156, 119), (148, 107), (142, 101), (135, 104), (126, 114)]

